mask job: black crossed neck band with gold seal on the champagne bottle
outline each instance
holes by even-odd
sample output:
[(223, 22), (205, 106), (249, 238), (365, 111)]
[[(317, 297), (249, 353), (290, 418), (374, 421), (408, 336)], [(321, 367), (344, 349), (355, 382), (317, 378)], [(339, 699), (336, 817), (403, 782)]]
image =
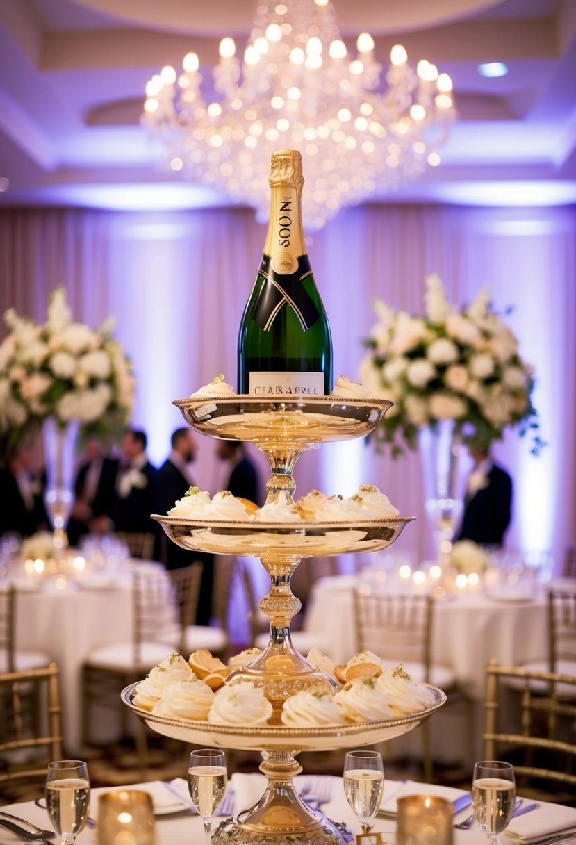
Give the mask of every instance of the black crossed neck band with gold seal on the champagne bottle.
[[(296, 266), (297, 260), (297, 266)], [(320, 313), (302, 281), (312, 274), (307, 255), (295, 259), (290, 253), (274, 254), (270, 259), (264, 254), (259, 275), (264, 275), (264, 285), (253, 305), (252, 318), (262, 330), (269, 331), (282, 308), (291, 308), (302, 330), (307, 331)]]

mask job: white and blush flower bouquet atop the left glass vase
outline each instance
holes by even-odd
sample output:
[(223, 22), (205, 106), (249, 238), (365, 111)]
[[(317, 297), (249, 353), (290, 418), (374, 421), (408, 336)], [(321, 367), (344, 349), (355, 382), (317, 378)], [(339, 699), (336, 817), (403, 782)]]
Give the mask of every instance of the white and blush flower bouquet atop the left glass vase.
[(99, 329), (72, 319), (66, 291), (49, 297), (46, 322), (4, 313), (0, 344), (0, 431), (12, 443), (46, 417), (78, 420), (84, 437), (107, 438), (128, 423), (135, 381), (109, 317)]

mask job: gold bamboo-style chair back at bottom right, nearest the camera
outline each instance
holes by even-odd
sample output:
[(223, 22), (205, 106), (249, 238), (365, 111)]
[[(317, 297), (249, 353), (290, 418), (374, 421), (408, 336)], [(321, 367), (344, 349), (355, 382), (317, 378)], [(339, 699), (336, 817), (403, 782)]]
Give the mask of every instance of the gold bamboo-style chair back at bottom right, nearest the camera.
[[(519, 696), (514, 706), (511, 696)], [(529, 778), (530, 786), (542, 779), (575, 787), (575, 701), (573, 675), (501, 667), (491, 661), (486, 667), (482, 759), (503, 759), (502, 745), (517, 777)]]

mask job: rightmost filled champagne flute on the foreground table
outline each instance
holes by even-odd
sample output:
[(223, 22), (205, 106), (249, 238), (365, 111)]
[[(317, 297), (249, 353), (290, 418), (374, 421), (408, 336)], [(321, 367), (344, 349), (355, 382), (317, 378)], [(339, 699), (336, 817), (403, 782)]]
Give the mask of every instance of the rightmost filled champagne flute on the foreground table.
[(514, 767), (502, 760), (481, 760), (474, 766), (472, 801), (474, 813), (492, 845), (506, 830), (514, 812), (516, 782)]

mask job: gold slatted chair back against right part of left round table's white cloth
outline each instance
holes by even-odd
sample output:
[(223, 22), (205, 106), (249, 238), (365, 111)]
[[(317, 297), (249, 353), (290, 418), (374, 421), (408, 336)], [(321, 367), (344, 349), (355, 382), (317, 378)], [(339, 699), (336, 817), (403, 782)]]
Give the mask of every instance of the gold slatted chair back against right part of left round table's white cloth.
[(160, 566), (133, 571), (133, 665), (142, 664), (144, 642), (166, 641), (172, 636), (172, 647), (178, 647), (180, 626), (178, 608), (171, 580)]

